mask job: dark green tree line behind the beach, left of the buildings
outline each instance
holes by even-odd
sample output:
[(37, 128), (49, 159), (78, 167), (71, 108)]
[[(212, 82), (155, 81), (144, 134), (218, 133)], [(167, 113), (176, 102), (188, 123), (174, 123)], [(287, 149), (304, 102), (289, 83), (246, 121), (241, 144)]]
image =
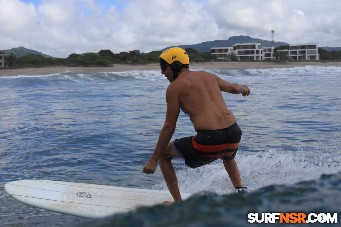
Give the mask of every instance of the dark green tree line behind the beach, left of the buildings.
[[(198, 52), (193, 48), (185, 49), (191, 59), (191, 62), (211, 61), (215, 57), (210, 52)], [(84, 54), (71, 54), (67, 58), (46, 58), (41, 55), (25, 55), (16, 57), (14, 54), (5, 56), (7, 66), (11, 67), (35, 67), (48, 65), (103, 65), (112, 64), (148, 64), (159, 62), (161, 51), (155, 50), (149, 53), (141, 53), (139, 50), (123, 51), (119, 54), (114, 54), (111, 50), (100, 50), (98, 53), (88, 52)]]

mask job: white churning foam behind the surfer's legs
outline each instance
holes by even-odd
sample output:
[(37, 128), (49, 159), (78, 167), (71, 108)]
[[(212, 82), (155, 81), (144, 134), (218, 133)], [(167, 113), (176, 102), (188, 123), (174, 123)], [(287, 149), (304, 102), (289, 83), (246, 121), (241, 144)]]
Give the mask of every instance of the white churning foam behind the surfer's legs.
[[(322, 174), (341, 171), (341, 156), (322, 151), (249, 152), (236, 155), (243, 186), (256, 190), (272, 184), (293, 184), (318, 179)], [(182, 165), (184, 166), (184, 165)], [(214, 192), (219, 195), (234, 191), (222, 161), (196, 169), (181, 167), (176, 170), (181, 192)], [(153, 189), (167, 190), (164, 182)]]

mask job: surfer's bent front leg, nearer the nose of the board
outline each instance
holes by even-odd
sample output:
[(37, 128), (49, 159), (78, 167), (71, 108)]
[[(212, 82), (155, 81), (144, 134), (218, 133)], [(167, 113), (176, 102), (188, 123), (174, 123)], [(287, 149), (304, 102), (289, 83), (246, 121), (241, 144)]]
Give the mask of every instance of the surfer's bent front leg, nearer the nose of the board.
[[(168, 143), (166, 150), (162, 152), (159, 159), (159, 165), (170, 194), (174, 201), (181, 201), (181, 195), (178, 187), (178, 179), (176, 178), (175, 170), (171, 162), (172, 158), (180, 157), (173, 148), (173, 142)], [(181, 158), (181, 157), (180, 157)], [(167, 203), (165, 201), (164, 203)]]

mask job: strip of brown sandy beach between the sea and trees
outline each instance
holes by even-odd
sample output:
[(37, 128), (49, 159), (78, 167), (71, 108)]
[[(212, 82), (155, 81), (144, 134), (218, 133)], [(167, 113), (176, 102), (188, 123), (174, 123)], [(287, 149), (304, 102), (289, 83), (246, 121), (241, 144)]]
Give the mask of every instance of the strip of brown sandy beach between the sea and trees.
[[(273, 69), (291, 68), (304, 66), (338, 66), (341, 62), (203, 62), (191, 63), (190, 69), (220, 69), (220, 70), (245, 70), (245, 69)], [(70, 66), (48, 66), (40, 68), (3, 69), (0, 76), (18, 75), (50, 75), (55, 73), (93, 73), (93, 72), (123, 72), (134, 70), (160, 70), (158, 63), (154, 64), (115, 64), (110, 67), (70, 67)]]

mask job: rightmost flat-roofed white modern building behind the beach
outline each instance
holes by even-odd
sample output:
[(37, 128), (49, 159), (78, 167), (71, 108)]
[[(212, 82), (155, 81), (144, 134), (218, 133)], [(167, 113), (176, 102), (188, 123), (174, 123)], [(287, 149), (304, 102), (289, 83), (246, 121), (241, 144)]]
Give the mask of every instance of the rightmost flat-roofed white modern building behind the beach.
[(281, 50), (278, 51), (285, 51), (291, 60), (320, 60), (317, 43), (289, 44), (280, 47)]

